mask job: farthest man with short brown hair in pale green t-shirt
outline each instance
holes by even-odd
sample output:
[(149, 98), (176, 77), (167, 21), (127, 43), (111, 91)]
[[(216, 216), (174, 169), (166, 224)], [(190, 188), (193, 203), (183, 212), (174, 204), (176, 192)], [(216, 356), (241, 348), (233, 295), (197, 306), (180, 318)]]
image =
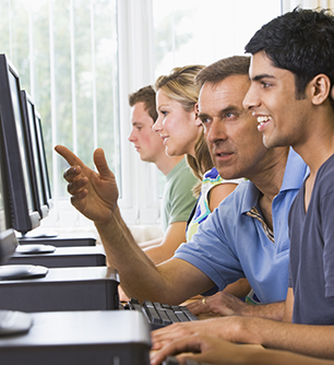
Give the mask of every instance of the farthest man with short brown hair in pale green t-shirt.
[(152, 130), (157, 119), (154, 89), (148, 85), (130, 94), (129, 104), (132, 113), (129, 141), (134, 144), (141, 160), (154, 163), (168, 180), (163, 196), (164, 236), (140, 244), (153, 262), (159, 263), (172, 257), (186, 240), (187, 220), (195, 203), (192, 187), (196, 178), (184, 156), (168, 156), (160, 136)]

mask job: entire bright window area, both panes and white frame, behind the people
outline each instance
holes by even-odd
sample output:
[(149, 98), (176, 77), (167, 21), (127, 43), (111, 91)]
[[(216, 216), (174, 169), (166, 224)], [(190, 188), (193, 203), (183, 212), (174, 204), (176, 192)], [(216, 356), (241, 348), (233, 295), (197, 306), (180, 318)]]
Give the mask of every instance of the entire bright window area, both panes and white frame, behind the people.
[(94, 149), (102, 146), (118, 179), (126, 222), (157, 223), (164, 178), (128, 141), (128, 94), (174, 67), (243, 55), (254, 32), (295, 2), (0, 0), (0, 52), (41, 115), (55, 198), (51, 220), (44, 223), (87, 224), (71, 208), (62, 178), (67, 166), (52, 152), (57, 143), (91, 167)]

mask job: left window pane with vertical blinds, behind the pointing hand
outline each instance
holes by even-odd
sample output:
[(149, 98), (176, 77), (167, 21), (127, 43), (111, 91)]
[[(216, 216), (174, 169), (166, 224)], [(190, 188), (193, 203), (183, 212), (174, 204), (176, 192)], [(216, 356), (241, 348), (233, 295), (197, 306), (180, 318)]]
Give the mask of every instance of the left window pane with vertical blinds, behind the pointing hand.
[(56, 212), (47, 221), (75, 224), (62, 178), (67, 165), (53, 146), (67, 145), (91, 167), (102, 146), (121, 176), (116, 0), (1, 0), (0, 12), (0, 52), (41, 116)]

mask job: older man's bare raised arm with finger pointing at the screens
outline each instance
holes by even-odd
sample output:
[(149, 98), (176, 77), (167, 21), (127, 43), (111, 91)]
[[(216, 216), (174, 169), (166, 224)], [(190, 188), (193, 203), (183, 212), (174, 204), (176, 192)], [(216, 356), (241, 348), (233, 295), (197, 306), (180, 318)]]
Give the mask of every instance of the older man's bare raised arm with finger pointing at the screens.
[(71, 166), (64, 178), (69, 182), (72, 204), (94, 221), (108, 262), (118, 270), (128, 296), (179, 304), (198, 291), (204, 292), (213, 286), (204, 273), (186, 261), (171, 259), (156, 267), (142, 251), (121, 217), (115, 176), (102, 149), (94, 153), (97, 173), (67, 148), (58, 145), (56, 151)]

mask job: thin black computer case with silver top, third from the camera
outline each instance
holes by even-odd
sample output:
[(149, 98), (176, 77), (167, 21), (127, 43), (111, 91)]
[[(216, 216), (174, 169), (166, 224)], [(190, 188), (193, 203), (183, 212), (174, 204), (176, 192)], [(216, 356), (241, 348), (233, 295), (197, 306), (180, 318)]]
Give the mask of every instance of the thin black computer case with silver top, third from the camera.
[(14, 254), (8, 264), (40, 264), (47, 268), (77, 268), (106, 266), (102, 245), (56, 247), (51, 254)]

